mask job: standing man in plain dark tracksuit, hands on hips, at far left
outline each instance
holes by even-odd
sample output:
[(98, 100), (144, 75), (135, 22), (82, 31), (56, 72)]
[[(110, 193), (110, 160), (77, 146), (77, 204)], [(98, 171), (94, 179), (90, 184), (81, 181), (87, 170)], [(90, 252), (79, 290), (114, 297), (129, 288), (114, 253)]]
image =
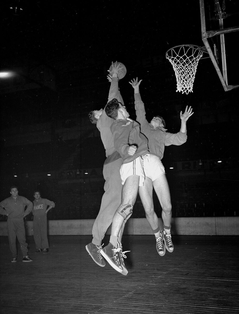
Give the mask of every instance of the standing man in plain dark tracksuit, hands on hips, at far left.
[[(22, 261), (32, 262), (32, 259), (28, 256), (24, 217), (31, 212), (33, 205), (27, 198), (18, 195), (18, 188), (16, 186), (10, 188), (10, 193), (11, 196), (0, 203), (0, 214), (8, 216), (8, 240), (13, 257), (12, 263), (17, 261), (16, 236), (18, 237), (23, 253)], [(24, 211), (25, 206), (27, 206), (27, 209)]]

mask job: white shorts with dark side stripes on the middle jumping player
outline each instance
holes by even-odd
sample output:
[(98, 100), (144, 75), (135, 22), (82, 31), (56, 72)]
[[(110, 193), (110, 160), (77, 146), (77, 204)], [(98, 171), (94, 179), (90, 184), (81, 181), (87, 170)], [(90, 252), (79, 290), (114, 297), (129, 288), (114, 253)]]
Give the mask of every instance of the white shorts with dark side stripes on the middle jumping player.
[(125, 184), (126, 179), (132, 175), (140, 177), (139, 186), (142, 187), (145, 179), (142, 156), (137, 157), (135, 160), (127, 164), (122, 164), (120, 168), (120, 176), (123, 185)]

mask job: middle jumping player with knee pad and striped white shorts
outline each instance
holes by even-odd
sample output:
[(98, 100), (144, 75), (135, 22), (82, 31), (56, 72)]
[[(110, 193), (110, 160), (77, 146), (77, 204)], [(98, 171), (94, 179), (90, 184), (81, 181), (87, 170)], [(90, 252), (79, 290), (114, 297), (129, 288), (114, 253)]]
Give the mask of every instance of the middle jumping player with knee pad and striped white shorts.
[(149, 153), (148, 140), (140, 133), (139, 123), (129, 118), (125, 106), (117, 99), (109, 101), (105, 112), (107, 116), (114, 119), (110, 129), (114, 138), (114, 147), (123, 159), (120, 168), (123, 189), (120, 206), (112, 221), (109, 244), (100, 252), (116, 271), (127, 275), (128, 271), (123, 258), (125, 252), (122, 252), (122, 247), (119, 245), (119, 232), (132, 214), (138, 188), (143, 185), (145, 179), (142, 157)]

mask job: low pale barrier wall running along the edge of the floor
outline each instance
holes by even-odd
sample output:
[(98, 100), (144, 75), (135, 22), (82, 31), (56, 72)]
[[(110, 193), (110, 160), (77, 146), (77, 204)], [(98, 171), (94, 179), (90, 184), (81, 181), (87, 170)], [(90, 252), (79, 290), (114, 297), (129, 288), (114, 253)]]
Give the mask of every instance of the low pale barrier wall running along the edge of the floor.
[[(162, 219), (161, 224), (162, 224)], [(94, 219), (49, 220), (48, 234), (54, 235), (91, 235)], [(106, 234), (110, 234), (109, 226)], [(33, 235), (33, 222), (27, 221), (26, 233)], [(172, 218), (172, 235), (189, 236), (229, 236), (239, 235), (239, 217), (186, 217)], [(146, 218), (132, 218), (127, 221), (124, 234), (151, 235), (152, 230)], [(0, 236), (7, 236), (7, 222), (0, 222)]]

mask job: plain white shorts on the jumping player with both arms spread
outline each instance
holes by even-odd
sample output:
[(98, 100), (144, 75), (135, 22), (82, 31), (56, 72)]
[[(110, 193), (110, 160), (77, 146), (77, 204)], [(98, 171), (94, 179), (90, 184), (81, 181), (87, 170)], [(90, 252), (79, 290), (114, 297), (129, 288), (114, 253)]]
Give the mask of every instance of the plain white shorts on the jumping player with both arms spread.
[(146, 154), (142, 156), (142, 158), (145, 176), (152, 181), (165, 174), (164, 166), (159, 157), (152, 154)]

